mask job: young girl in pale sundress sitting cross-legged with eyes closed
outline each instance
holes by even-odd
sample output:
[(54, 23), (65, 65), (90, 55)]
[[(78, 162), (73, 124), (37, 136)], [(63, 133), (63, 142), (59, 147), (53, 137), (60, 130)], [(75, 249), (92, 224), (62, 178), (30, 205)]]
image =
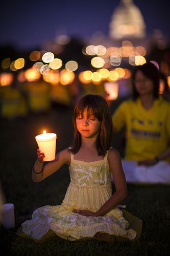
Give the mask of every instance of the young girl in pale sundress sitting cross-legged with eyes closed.
[(67, 240), (113, 236), (133, 240), (136, 231), (128, 229), (128, 221), (116, 207), (127, 196), (127, 185), (119, 153), (110, 148), (112, 119), (105, 99), (100, 95), (81, 98), (75, 106), (73, 124), (71, 147), (44, 166), (44, 153), (38, 149), (32, 171), (33, 181), (40, 182), (67, 164), (70, 184), (65, 198), (61, 205), (36, 209), (32, 220), (22, 223), (23, 232), (37, 240), (49, 230)]

